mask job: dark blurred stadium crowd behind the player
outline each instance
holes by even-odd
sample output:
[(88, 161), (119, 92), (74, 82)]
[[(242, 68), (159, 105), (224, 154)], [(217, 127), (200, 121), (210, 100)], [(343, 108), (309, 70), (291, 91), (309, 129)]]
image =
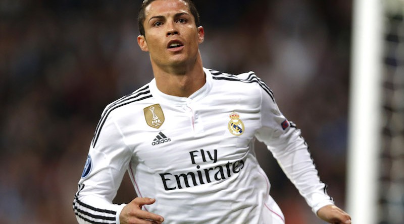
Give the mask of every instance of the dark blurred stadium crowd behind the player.
[[(0, 223), (70, 224), (103, 108), (151, 78), (136, 43), (141, 1), (0, 1)], [(351, 1), (196, 0), (204, 65), (254, 70), (302, 129), (344, 207)], [(261, 144), (286, 223), (323, 223)], [(135, 196), (128, 177), (115, 199)]]

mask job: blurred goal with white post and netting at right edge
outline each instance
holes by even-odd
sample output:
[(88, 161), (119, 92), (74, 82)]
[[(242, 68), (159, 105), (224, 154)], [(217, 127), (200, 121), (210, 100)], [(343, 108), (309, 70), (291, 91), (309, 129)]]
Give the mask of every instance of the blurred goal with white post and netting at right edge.
[(404, 0), (354, 0), (346, 210), (404, 223)]

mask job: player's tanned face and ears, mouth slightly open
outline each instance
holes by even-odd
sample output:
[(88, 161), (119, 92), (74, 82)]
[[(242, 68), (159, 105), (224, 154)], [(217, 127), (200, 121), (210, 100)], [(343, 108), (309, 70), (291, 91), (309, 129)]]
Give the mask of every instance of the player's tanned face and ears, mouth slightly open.
[(204, 29), (196, 27), (187, 4), (181, 0), (157, 0), (145, 8), (144, 36), (137, 41), (150, 53), (157, 66), (194, 63), (198, 45), (204, 40)]

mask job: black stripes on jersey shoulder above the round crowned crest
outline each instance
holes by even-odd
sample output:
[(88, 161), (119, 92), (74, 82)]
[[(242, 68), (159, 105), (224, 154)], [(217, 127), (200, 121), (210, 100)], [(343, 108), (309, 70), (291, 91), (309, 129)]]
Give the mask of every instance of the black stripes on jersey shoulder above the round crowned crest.
[(210, 70), (210, 71), (212, 73), (212, 78), (214, 80), (240, 81), (243, 83), (258, 83), (261, 86), (261, 88), (263, 88), (263, 90), (268, 93), (268, 95), (271, 97), (272, 101), (275, 102), (274, 93), (272, 92), (272, 90), (267, 86), (267, 84), (265, 84), (264, 81), (262, 81), (260, 78), (258, 78), (256, 76), (256, 74), (252, 71), (248, 72), (249, 75), (248, 75), (247, 79), (241, 79), (240, 77), (238, 77), (234, 74), (223, 73), (223, 72), (215, 71), (215, 70)]

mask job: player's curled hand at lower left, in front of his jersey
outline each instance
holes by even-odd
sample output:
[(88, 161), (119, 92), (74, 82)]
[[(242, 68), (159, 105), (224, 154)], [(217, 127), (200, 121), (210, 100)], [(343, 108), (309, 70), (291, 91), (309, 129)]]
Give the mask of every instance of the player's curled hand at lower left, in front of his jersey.
[(119, 219), (121, 224), (161, 224), (164, 218), (158, 214), (141, 210), (145, 204), (153, 204), (154, 198), (137, 197), (122, 208)]

